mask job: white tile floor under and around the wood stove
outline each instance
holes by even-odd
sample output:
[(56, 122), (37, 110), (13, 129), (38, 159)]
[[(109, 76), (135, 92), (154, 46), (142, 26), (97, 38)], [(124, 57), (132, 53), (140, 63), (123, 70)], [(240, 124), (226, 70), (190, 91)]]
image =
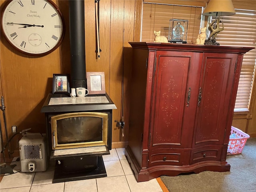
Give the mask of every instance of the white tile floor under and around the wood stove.
[[(124, 155), (124, 148), (110, 150), (102, 156), (107, 177), (52, 183), (54, 166), (45, 172), (17, 172), (5, 175), (1, 192), (162, 192), (156, 179), (137, 182)], [(17, 164), (18, 163), (18, 164)], [(14, 170), (20, 170), (20, 162)]]

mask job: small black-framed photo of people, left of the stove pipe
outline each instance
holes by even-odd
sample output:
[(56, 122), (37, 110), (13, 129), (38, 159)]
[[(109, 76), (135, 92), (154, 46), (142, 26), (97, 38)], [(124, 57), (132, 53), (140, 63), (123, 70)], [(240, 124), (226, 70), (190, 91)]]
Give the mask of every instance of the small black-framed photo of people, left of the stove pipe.
[(68, 74), (53, 74), (52, 93), (70, 93)]

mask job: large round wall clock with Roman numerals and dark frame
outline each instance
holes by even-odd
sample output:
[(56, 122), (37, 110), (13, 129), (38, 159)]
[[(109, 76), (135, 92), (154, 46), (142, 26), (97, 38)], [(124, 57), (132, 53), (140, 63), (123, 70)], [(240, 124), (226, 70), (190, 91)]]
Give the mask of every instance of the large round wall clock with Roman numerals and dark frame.
[(44, 56), (62, 42), (63, 16), (51, 0), (7, 1), (1, 15), (1, 30), (18, 51), (30, 56)]

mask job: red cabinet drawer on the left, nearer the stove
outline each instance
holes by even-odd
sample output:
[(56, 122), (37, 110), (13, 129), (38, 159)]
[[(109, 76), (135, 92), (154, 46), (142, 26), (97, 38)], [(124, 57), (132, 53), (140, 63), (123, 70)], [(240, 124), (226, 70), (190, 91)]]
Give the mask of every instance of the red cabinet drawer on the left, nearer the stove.
[(158, 149), (149, 152), (148, 167), (156, 165), (185, 165), (185, 156), (189, 157), (190, 152), (178, 149)]

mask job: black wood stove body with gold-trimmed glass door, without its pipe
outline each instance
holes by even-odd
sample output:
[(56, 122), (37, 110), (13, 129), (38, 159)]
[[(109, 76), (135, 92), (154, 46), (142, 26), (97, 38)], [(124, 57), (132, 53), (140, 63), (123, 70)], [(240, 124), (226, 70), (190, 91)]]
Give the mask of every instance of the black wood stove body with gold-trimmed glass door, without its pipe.
[(84, 98), (48, 94), (47, 159), (56, 160), (53, 183), (107, 176), (102, 155), (112, 149), (112, 110), (107, 94)]

